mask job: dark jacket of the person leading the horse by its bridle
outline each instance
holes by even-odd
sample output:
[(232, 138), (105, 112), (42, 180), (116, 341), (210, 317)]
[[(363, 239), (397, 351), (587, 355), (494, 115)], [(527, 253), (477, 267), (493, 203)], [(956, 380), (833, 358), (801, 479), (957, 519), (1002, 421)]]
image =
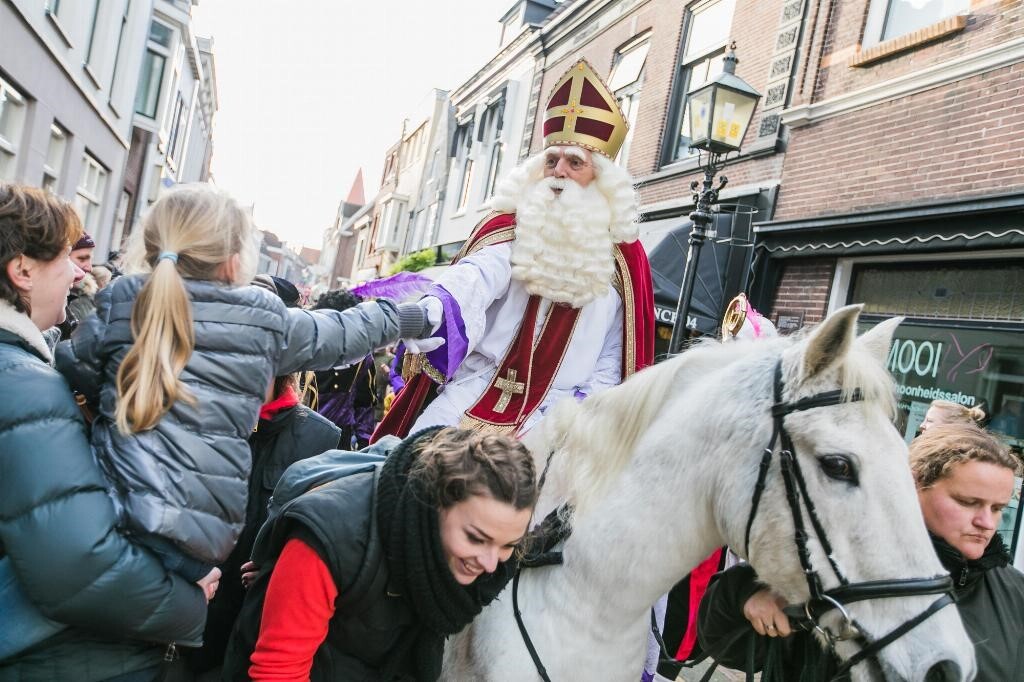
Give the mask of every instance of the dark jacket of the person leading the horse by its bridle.
[[(953, 578), (956, 607), (975, 643), (975, 682), (1020, 680), (1024, 671), (1024, 573), (1008, 565), (1009, 555), (998, 535), (984, 556), (968, 561), (939, 538), (932, 537), (942, 565)], [(771, 680), (827, 680), (837, 664), (805, 632), (784, 640), (762, 637), (743, 616), (743, 604), (764, 586), (749, 564), (733, 566), (715, 579), (700, 602), (697, 636), (700, 645), (724, 666), (760, 671), (772, 659), (779, 676)]]

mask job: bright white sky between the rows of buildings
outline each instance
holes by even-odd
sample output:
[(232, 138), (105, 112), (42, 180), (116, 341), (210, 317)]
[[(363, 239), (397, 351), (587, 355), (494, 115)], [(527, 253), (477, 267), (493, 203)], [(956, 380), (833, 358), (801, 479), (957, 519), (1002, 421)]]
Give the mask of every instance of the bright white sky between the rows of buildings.
[(319, 249), (356, 171), (371, 200), (402, 119), (498, 52), (514, 1), (203, 0), (217, 184), (254, 204), (260, 227)]

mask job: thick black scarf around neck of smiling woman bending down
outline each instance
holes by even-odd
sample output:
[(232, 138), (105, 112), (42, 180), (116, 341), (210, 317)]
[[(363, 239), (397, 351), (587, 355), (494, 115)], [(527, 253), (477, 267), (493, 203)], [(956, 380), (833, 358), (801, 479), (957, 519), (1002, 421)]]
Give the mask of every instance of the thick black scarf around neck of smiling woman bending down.
[(467, 587), (459, 585), (444, 558), (436, 494), (409, 471), (420, 447), (440, 427), (420, 431), (388, 455), (377, 486), (377, 522), (387, 553), (390, 588), (412, 605), (419, 624), (402, 637), (384, 679), (399, 674), (410, 653), (416, 679), (440, 676), (444, 638), (468, 625), (512, 578), (512, 562), (499, 564)]

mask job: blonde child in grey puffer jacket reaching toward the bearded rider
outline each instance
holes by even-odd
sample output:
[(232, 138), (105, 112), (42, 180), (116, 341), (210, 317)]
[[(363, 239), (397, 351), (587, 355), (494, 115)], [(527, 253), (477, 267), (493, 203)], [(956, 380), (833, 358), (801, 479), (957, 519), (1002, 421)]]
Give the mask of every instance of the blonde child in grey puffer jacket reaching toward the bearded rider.
[(58, 369), (95, 404), (92, 445), (124, 523), (208, 595), (208, 574), (245, 521), (248, 437), (273, 378), (430, 332), (415, 304), (286, 308), (243, 286), (256, 257), (237, 202), (210, 185), (176, 188), (130, 249), (139, 273), (105, 288), (96, 314), (57, 349)]

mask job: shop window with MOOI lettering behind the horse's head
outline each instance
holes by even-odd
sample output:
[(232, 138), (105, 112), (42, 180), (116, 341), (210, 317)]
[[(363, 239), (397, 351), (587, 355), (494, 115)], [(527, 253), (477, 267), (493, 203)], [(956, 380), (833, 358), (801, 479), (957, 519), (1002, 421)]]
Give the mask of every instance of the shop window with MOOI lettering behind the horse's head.
[[(985, 426), (1018, 455), (1024, 449), (1024, 261), (956, 265), (865, 264), (853, 272), (850, 302), (864, 304), (862, 327), (891, 315), (896, 330), (887, 368), (899, 399), (896, 426), (909, 442), (932, 400), (981, 408)], [(998, 531), (1020, 543), (1020, 491)]]

